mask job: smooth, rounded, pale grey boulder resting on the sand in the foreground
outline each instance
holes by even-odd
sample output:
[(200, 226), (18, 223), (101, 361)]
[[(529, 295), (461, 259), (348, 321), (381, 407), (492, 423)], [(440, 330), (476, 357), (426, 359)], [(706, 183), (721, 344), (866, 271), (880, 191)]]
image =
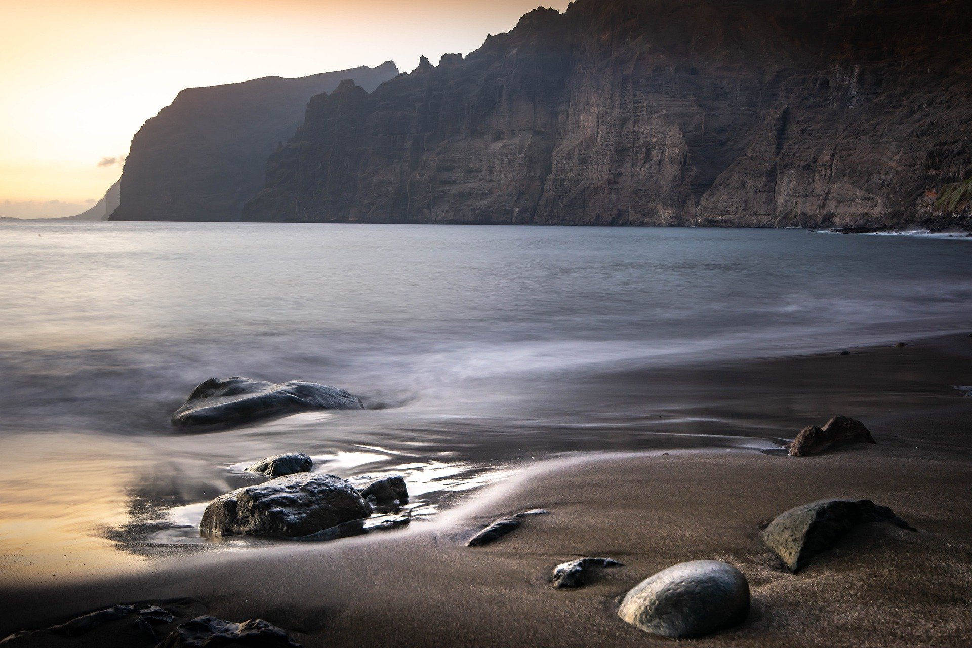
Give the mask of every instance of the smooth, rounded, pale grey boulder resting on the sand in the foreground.
[(748, 613), (746, 576), (720, 561), (662, 569), (631, 590), (617, 611), (632, 626), (671, 638), (732, 628), (746, 621)]

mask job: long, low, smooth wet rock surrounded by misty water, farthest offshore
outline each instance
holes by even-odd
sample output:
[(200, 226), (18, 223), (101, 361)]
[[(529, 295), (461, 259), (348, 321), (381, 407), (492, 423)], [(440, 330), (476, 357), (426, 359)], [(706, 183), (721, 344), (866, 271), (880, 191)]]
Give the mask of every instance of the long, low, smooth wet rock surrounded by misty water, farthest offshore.
[(364, 409), (344, 390), (292, 380), (273, 384), (241, 376), (210, 378), (172, 415), (174, 426), (238, 426), (297, 412)]

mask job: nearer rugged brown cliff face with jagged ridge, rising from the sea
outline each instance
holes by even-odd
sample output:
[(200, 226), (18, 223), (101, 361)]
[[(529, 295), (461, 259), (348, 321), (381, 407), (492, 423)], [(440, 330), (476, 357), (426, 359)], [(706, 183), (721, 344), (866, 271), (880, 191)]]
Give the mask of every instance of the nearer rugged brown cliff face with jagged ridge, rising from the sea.
[(244, 219), (920, 222), (944, 185), (972, 175), (967, 10), (966, 0), (538, 9), (465, 59), (423, 60), (370, 94), (343, 84), (314, 97)]

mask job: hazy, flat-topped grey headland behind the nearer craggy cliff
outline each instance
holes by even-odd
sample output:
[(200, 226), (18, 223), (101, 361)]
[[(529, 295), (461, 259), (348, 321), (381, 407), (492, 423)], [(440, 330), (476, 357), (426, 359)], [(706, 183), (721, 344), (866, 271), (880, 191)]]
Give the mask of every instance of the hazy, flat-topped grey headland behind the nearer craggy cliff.
[(238, 221), (263, 187), (267, 156), (294, 135), (310, 97), (344, 79), (373, 89), (398, 73), (389, 61), (183, 90), (132, 139), (111, 220)]

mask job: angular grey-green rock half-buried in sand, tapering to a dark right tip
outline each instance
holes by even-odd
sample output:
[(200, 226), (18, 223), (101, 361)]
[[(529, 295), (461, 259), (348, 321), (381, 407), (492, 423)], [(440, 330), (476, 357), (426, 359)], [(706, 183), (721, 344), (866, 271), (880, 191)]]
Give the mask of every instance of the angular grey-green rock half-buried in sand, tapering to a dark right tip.
[(871, 522), (914, 530), (891, 509), (870, 499), (821, 499), (781, 513), (763, 530), (763, 541), (795, 572), (853, 527)]

